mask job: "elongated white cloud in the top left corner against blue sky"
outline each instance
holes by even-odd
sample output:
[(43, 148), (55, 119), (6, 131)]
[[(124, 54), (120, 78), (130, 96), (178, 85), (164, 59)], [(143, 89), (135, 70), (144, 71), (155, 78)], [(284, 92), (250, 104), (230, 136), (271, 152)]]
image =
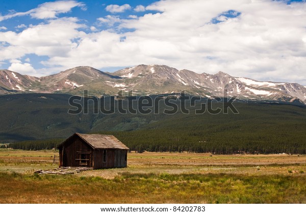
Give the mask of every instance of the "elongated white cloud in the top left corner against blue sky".
[(39, 5), (37, 8), (26, 12), (13, 12), (4, 16), (0, 15), (0, 21), (24, 15), (30, 15), (31, 17), (38, 19), (56, 18), (58, 14), (67, 13), (74, 7), (80, 7), (82, 10), (86, 10), (85, 4), (76, 1), (64, 0), (57, 2), (46, 2)]

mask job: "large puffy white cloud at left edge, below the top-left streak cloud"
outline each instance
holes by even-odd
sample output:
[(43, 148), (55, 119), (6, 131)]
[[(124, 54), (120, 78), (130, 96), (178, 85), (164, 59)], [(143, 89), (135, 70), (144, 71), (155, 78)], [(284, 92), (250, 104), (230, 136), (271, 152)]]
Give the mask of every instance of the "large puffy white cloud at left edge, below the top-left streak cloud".
[(46, 24), (32, 26), (20, 33), (0, 32), (0, 41), (9, 44), (0, 46), (0, 61), (21, 58), (27, 53), (49, 57), (64, 56), (77, 46), (75, 39), (85, 35), (77, 29), (86, 26), (77, 21), (77, 18), (52, 19)]

